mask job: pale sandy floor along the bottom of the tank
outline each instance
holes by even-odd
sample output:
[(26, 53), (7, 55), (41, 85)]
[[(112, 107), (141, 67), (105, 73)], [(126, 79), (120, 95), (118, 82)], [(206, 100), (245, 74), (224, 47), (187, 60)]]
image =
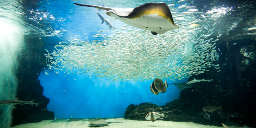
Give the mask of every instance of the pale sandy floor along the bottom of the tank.
[[(66, 120), (43, 120), (39, 123), (21, 124), (12, 128), (93, 128), (89, 127), (90, 122), (85, 121), (90, 119), (81, 119), (81, 121), (66, 122)], [(137, 121), (126, 120), (124, 118), (109, 118), (107, 122), (121, 122), (111, 123), (102, 128), (221, 128), (217, 126), (206, 126), (192, 122), (171, 122), (156, 120), (152, 121)], [(223, 127), (222, 127), (223, 128)]]

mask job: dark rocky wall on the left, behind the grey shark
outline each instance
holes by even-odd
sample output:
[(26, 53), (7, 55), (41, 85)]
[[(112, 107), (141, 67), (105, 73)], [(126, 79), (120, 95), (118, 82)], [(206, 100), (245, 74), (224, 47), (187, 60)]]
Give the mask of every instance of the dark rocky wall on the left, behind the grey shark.
[(20, 100), (43, 103), (38, 106), (15, 105), (12, 112), (12, 126), (54, 118), (53, 112), (46, 110), (49, 99), (43, 96), (43, 87), (37, 79), (42, 66), (46, 64), (44, 51), (41, 50), (44, 43), (40, 38), (27, 38), (25, 42), (25, 48), (18, 56), (17, 97)]

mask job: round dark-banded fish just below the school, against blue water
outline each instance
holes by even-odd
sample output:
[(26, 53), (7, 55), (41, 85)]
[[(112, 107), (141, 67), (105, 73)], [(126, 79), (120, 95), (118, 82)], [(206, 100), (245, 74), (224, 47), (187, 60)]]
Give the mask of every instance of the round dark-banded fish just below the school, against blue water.
[(164, 82), (158, 78), (155, 78), (155, 80), (150, 84), (150, 91), (154, 94), (158, 94), (159, 92), (166, 92), (166, 88), (168, 88), (166, 80)]

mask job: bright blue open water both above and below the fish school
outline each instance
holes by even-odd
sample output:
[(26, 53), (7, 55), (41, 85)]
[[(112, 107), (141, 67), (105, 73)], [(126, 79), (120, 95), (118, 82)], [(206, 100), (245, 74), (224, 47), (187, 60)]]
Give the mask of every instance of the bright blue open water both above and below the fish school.
[[(33, 18), (42, 18), (39, 22), (51, 26), (50, 30), (53, 31), (46, 31), (46, 34), (55, 34), (55, 36), (42, 39), (46, 43), (43, 50), (46, 48), (49, 52), (53, 52), (54, 46), (61, 41), (67, 41), (70, 38), (95, 40), (93, 36), (98, 34), (97, 31), (105, 30), (104, 34), (110, 34), (112, 31), (105, 23), (100, 24), (101, 20), (94, 8), (76, 6), (74, 2), (115, 7), (111, 4), (114, 1), (40, 1), (40, 6), (33, 12), (35, 14)], [(118, 8), (129, 8), (129, 6), (144, 3), (134, 1), (130, 5), (127, 4), (128, 2), (119, 2)], [(159, 2), (159, 0), (154, 2)], [(108, 18), (104, 11), (97, 10), (97, 12), (104, 18)], [(125, 25), (119, 20), (112, 21), (112, 24), (116, 28)], [(166, 93), (152, 94), (150, 92), (152, 80), (111, 82), (106, 78), (76, 74), (65, 75), (65, 77), (62, 74), (53, 74), (53, 72), (48, 72), (48, 74), (46, 75), (42, 70), (38, 79), (44, 87), (43, 95), (50, 99), (47, 109), (54, 112), (54, 118), (58, 119), (71, 116), (72, 118), (119, 118), (124, 117), (125, 110), (130, 104), (151, 102), (163, 106), (180, 96), (180, 90), (173, 85), (169, 85)], [(187, 82), (187, 80), (175, 82)]]

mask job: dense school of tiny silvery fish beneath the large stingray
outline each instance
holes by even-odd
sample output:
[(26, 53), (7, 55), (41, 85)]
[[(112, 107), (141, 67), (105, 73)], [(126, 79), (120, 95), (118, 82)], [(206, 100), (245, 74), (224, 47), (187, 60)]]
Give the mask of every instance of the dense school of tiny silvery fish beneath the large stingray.
[(124, 25), (111, 35), (104, 36), (104, 30), (99, 30), (92, 41), (60, 42), (54, 52), (46, 50), (48, 70), (64, 76), (88, 75), (117, 82), (154, 78), (181, 80), (202, 74), (211, 67), (220, 72), (219, 64), (213, 63), (218, 59), (215, 44), (219, 39), (212, 36), (215, 24), (208, 24), (214, 18), (188, 5), (168, 4), (175, 24), (181, 28), (165, 34), (152, 35), (148, 30)]

